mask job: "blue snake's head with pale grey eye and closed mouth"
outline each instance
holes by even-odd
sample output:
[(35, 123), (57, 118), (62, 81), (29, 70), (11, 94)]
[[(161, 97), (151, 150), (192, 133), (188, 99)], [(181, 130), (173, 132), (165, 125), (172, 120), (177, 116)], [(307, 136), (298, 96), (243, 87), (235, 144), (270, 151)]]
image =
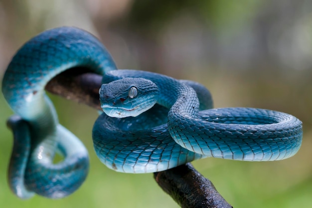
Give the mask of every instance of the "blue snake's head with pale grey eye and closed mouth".
[(100, 102), (110, 117), (138, 116), (152, 108), (159, 94), (154, 82), (144, 78), (123, 78), (102, 84)]

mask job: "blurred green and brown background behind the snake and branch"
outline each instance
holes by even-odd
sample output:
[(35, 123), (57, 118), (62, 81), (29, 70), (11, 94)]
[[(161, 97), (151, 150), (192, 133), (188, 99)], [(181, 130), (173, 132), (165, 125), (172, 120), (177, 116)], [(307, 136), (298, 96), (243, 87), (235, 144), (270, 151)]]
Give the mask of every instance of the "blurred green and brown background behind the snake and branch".
[[(267, 108), (301, 119), (303, 144), (293, 158), (193, 165), (236, 208), (312, 207), (312, 1), (0, 0), (0, 77), (25, 41), (62, 25), (95, 34), (121, 69), (204, 84), (217, 108)], [(12, 112), (0, 95), (1, 208), (178, 207), (152, 174), (116, 173), (100, 163), (91, 139), (95, 110), (51, 98), (60, 123), (89, 150), (89, 176), (65, 199), (16, 198), (6, 182), (12, 135), (5, 121)]]

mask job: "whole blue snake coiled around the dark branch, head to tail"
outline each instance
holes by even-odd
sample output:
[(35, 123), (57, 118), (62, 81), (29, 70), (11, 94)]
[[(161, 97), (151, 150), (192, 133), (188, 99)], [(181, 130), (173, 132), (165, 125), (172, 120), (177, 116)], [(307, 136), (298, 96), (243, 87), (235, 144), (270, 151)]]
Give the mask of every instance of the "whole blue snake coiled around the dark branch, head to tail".
[[(74, 27), (54, 28), (17, 51), (2, 80), (2, 93), (15, 113), (7, 122), (14, 137), (8, 182), (20, 198), (63, 198), (87, 176), (87, 150), (59, 124), (44, 92), (54, 76), (77, 67), (103, 76), (99, 93), (104, 113), (92, 138), (101, 162), (115, 171), (158, 172), (205, 157), (282, 160), (301, 146), (302, 122), (292, 115), (212, 109), (210, 92), (199, 83), (117, 70), (96, 37)], [(55, 154), (64, 160), (54, 164)]]

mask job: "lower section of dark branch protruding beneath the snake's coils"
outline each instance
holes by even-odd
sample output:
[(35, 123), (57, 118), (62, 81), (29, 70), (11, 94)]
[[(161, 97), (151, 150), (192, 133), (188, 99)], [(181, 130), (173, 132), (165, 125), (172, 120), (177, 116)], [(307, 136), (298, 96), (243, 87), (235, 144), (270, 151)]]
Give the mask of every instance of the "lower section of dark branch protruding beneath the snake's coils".
[(232, 208), (211, 181), (187, 163), (154, 173), (157, 184), (182, 208)]

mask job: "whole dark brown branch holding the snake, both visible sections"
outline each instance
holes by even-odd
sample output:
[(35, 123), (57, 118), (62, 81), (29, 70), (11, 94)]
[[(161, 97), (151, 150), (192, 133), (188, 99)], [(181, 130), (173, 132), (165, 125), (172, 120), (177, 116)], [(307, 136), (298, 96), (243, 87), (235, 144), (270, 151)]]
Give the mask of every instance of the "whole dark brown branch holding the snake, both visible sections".
[[(85, 73), (83, 68), (68, 70), (54, 77), (45, 87), (53, 94), (101, 110), (101, 76)], [(157, 184), (182, 208), (232, 208), (213, 184), (191, 164), (154, 174)]]

